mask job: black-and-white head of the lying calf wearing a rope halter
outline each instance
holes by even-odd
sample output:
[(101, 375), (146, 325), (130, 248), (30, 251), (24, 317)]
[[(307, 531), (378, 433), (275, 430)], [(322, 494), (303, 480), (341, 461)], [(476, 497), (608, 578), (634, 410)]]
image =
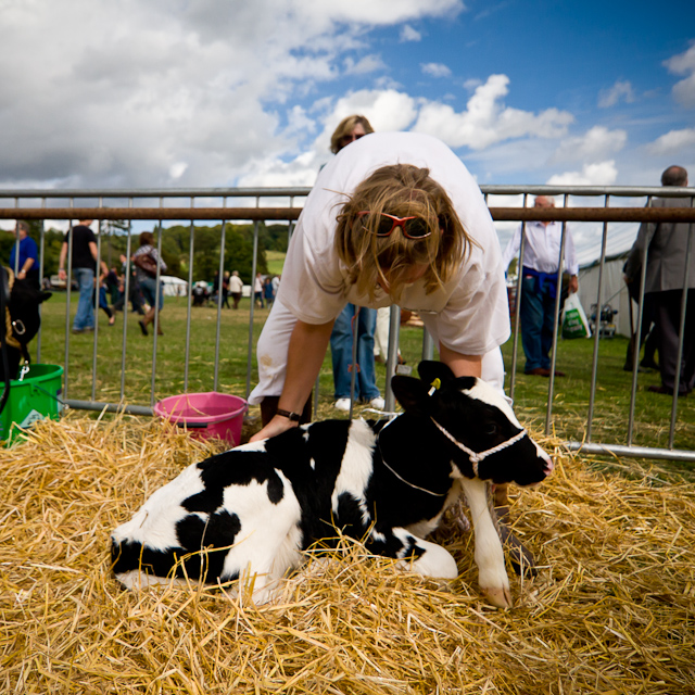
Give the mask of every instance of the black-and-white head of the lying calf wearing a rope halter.
[(424, 419), (432, 446), (452, 452), (462, 476), (531, 485), (552, 470), (551, 457), (526, 433), (505, 397), (476, 377), (454, 377), (439, 362), (421, 362), (420, 379), (391, 383), (406, 413)]

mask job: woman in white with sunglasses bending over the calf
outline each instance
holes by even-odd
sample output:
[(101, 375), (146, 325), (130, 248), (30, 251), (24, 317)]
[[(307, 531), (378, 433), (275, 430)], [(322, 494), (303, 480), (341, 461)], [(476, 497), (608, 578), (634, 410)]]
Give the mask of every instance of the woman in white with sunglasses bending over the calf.
[(503, 390), (509, 307), (497, 233), (480, 188), (437, 138), (376, 132), (319, 173), (258, 339), (249, 402), (261, 404), (264, 427), (252, 441), (307, 417), (349, 303), (417, 311), (456, 376)]

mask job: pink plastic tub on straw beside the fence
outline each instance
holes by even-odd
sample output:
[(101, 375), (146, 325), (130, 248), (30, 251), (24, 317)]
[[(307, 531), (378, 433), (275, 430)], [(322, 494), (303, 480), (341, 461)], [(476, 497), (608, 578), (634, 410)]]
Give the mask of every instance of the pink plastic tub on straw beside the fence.
[(249, 404), (238, 395), (217, 393), (182, 393), (163, 399), (154, 406), (155, 415), (178, 427), (191, 437), (218, 437), (236, 446), (241, 441), (241, 426)]

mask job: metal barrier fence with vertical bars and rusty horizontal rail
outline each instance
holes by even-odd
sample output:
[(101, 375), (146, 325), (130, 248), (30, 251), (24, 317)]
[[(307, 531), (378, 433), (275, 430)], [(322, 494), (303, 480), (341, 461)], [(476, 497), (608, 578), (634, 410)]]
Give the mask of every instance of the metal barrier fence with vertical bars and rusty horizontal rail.
[[(256, 275), (257, 251), (258, 251), (258, 222), (260, 220), (275, 220), (288, 223), (288, 236), (292, 233), (292, 226), (294, 220), (301, 213), (301, 205), (298, 205), (298, 201), (308, 194), (311, 189), (308, 188), (263, 188), (263, 189), (151, 189), (151, 190), (4, 190), (0, 191), (0, 201), (5, 201), (5, 206), (0, 208), (0, 218), (3, 219), (38, 219), (38, 220), (64, 220), (67, 225), (72, 225), (73, 222), (78, 219), (94, 219), (99, 220), (100, 229), (102, 220), (129, 220), (128, 232), (132, 230), (134, 222), (155, 220), (160, 228), (165, 220), (178, 220), (188, 222), (190, 224), (190, 239), (189, 239), (189, 258), (188, 258), (188, 311), (186, 320), (186, 350), (182, 359), (181, 368), (184, 370), (184, 391), (188, 390), (188, 370), (191, 359), (191, 288), (193, 287), (193, 255), (195, 250), (195, 222), (202, 220), (215, 220), (220, 224), (220, 252), (219, 252), (219, 278), (224, 273), (224, 258), (225, 258), (225, 242), (226, 242), (226, 225), (229, 220), (235, 222), (251, 222), (253, 223), (253, 267), (252, 278)], [(695, 188), (657, 188), (657, 187), (551, 187), (551, 186), (483, 186), (482, 191), (485, 195), (485, 200), (490, 206), (490, 211), (493, 219), (496, 222), (515, 222), (522, 225), (528, 220), (558, 220), (563, 223), (563, 241), (560, 244), (560, 257), (558, 258), (559, 266), (564, 263), (565, 253), (565, 239), (566, 239), (566, 225), (568, 222), (572, 223), (594, 223), (601, 225), (599, 240), (601, 240), (601, 253), (598, 258), (598, 282), (596, 293), (596, 306), (602, 307), (606, 301), (605, 291), (603, 288), (603, 273), (604, 265), (607, 257), (607, 250), (609, 243), (615, 241), (616, 237), (620, 235), (624, 236), (624, 229), (610, 228), (610, 223), (639, 223), (639, 222), (686, 222), (690, 223), (688, 245), (686, 252), (686, 261), (690, 254), (695, 253), (695, 242), (693, 242), (693, 222), (695, 222)], [(563, 206), (554, 208), (533, 208), (528, 206), (529, 197), (534, 195), (554, 195), (561, 197)], [(654, 208), (645, 207), (644, 204), (648, 203), (652, 197), (678, 197), (684, 198), (690, 204), (684, 204), (683, 207), (671, 208)], [(188, 206), (180, 206), (180, 200), (188, 199)], [(615, 199), (627, 201), (628, 205), (614, 205), (611, 202)], [(229, 201), (233, 200), (235, 206), (229, 206)], [(13, 205), (8, 204), (13, 201)], [(495, 206), (494, 202), (501, 201), (505, 205)], [(581, 201), (581, 205), (577, 205), (577, 201)], [(585, 202), (593, 203), (586, 205)], [(38, 204), (37, 204), (38, 203)], [(79, 204), (77, 204), (79, 203)], [(177, 204), (178, 203), (178, 204)], [(0, 203), (1, 204), (1, 203)], [(628, 231), (633, 239), (636, 233), (636, 228)], [(72, 237), (71, 237), (72, 239)], [(624, 241), (624, 240), (623, 240)], [(99, 257), (101, 258), (101, 235), (98, 236), (99, 242)], [(130, 280), (130, 255), (131, 255), (131, 233), (127, 235), (127, 250), (126, 257), (128, 258), (126, 267), (126, 283)], [(157, 249), (161, 252), (162, 238), (157, 239)], [(521, 244), (521, 260), (519, 267), (522, 264), (525, 244)], [(39, 273), (40, 277), (43, 277), (43, 262), (45, 262), (45, 230), (43, 224), (41, 224), (41, 236), (39, 242)], [(16, 254), (18, 256), (18, 254)], [(68, 254), (68, 260), (71, 254)], [(686, 276), (683, 279), (683, 287), (687, 287), (687, 262), (685, 264)], [(646, 260), (642, 264), (642, 285), (644, 288), (644, 278), (646, 271)], [(70, 277), (70, 267), (68, 267)], [(159, 271), (157, 271), (159, 280)], [(557, 305), (556, 316), (560, 316), (560, 286), (558, 278), (557, 287)], [(126, 298), (128, 298), (129, 288), (126, 285), (125, 288)], [(516, 287), (517, 300), (521, 298), (521, 274), (519, 274), (518, 283)], [(217, 303), (217, 323), (216, 323), (216, 338), (215, 338), (215, 372), (213, 377), (213, 389), (217, 389), (218, 372), (217, 366), (219, 362), (220, 350), (220, 309), (222, 309), (222, 293), (218, 293)], [(74, 408), (93, 409), (93, 410), (125, 410), (131, 414), (149, 415), (152, 413), (152, 405), (154, 404), (154, 386), (155, 374), (157, 368), (157, 337), (156, 330), (154, 331), (154, 344), (152, 348), (152, 367), (151, 367), (151, 389), (150, 389), (150, 404), (136, 404), (130, 394), (126, 393), (126, 327), (127, 321), (124, 323), (123, 333), (123, 348), (122, 348), (122, 381), (119, 390), (118, 402), (113, 401), (100, 401), (97, 399), (96, 383), (97, 379), (97, 364), (99, 359), (97, 350), (97, 338), (99, 325), (94, 330), (94, 348), (92, 351), (92, 392), (90, 400), (71, 400), (70, 399), (70, 386), (71, 374), (68, 371), (70, 364), (70, 295), (71, 283), (67, 283), (67, 301), (66, 301), (66, 316), (65, 316), (65, 336), (64, 336), (64, 396), (67, 405)], [(681, 313), (681, 343), (679, 348), (679, 361), (683, 353), (683, 334), (684, 334), (684, 321), (685, 321), (685, 302), (686, 293), (684, 293), (684, 301), (682, 303)], [(254, 302), (251, 302), (250, 316), (249, 316), (249, 339), (248, 339), (248, 355), (247, 355), (247, 395), (251, 390), (251, 375), (253, 371), (254, 361)], [(637, 323), (635, 332), (639, 336), (642, 324), (643, 314), (643, 294), (640, 298), (639, 311), (636, 313)], [(511, 353), (511, 370), (509, 374), (508, 392), (514, 397), (516, 389), (516, 367), (518, 356), (518, 336), (519, 336), (519, 307), (520, 301), (516, 301), (514, 321), (515, 330), (513, 336), (513, 353)], [(98, 298), (94, 300), (94, 311), (98, 313)], [(127, 314), (127, 302), (124, 305), (124, 312)], [(390, 344), (387, 359), (387, 375), (393, 375), (397, 365), (397, 342), (399, 342), (399, 314), (400, 309), (393, 307), (391, 312), (391, 332)], [(557, 345), (559, 332), (559, 321), (555, 321), (553, 344)], [(678, 421), (679, 413), (679, 399), (673, 397), (671, 420), (669, 428), (669, 444), (665, 448), (654, 448), (636, 446), (633, 443), (634, 432), (634, 415), (635, 415), (635, 395), (637, 392), (637, 371), (633, 370), (632, 384), (631, 384), (631, 402), (630, 408), (627, 415), (628, 428), (624, 444), (607, 443), (607, 442), (594, 442), (593, 441), (593, 425), (594, 425), (594, 403), (596, 395), (596, 377), (598, 367), (598, 354), (599, 354), (599, 331), (595, 331), (594, 346), (593, 346), (593, 359), (592, 359), (592, 379), (591, 391), (589, 401), (586, 403), (586, 420), (585, 420), (585, 434), (583, 441), (568, 441), (567, 445), (573, 450), (582, 450), (586, 453), (602, 454), (612, 453), (621, 456), (639, 456), (650, 458), (664, 458), (664, 459), (677, 459), (695, 462), (695, 452), (690, 450), (679, 450), (674, 447), (674, 431)], [(433, 354), (434, 346), (431, 339), (425, 331), (422, 342), (422, 356), (429, 358)], [(41, 354), (41, 333), (39, 333), (37, 342), (37, 362), (40, 362)], [(551, 376), (548, 379), (547, 403), (545, 408), (545, 431), (549, 433), (553, 429), (553, 403), (556, 394), (555, 384), (555, 364), (556, 364), (556, 350), (552, 351), (552, 365)], [(635, 351), (639, 354), (639, 351)], [(636, 367), (636, 364), (635, 364)], [(387, 378), (387, 409), (393, 408), (394, 401), (393, 394), (388, 388), (389, 379)], [(674, 394), (677, 395), (677, 394)]]

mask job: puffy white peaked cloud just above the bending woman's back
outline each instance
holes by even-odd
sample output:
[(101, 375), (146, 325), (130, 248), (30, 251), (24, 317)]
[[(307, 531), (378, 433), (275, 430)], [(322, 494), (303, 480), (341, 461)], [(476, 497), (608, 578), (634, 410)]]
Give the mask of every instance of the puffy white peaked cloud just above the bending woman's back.
[(508, 84), (506, 75), (491, 75), (476, 89), (463, 113), (456, 113), (447, 104), (426, 103), (413, 129), (439, 137), (450, 147), (466, 146), (472, 150), (523, 136), (557, 138), (565, 135), (573, 121), (567, 111), (547, 109), (534, 114), (501, 104)]

